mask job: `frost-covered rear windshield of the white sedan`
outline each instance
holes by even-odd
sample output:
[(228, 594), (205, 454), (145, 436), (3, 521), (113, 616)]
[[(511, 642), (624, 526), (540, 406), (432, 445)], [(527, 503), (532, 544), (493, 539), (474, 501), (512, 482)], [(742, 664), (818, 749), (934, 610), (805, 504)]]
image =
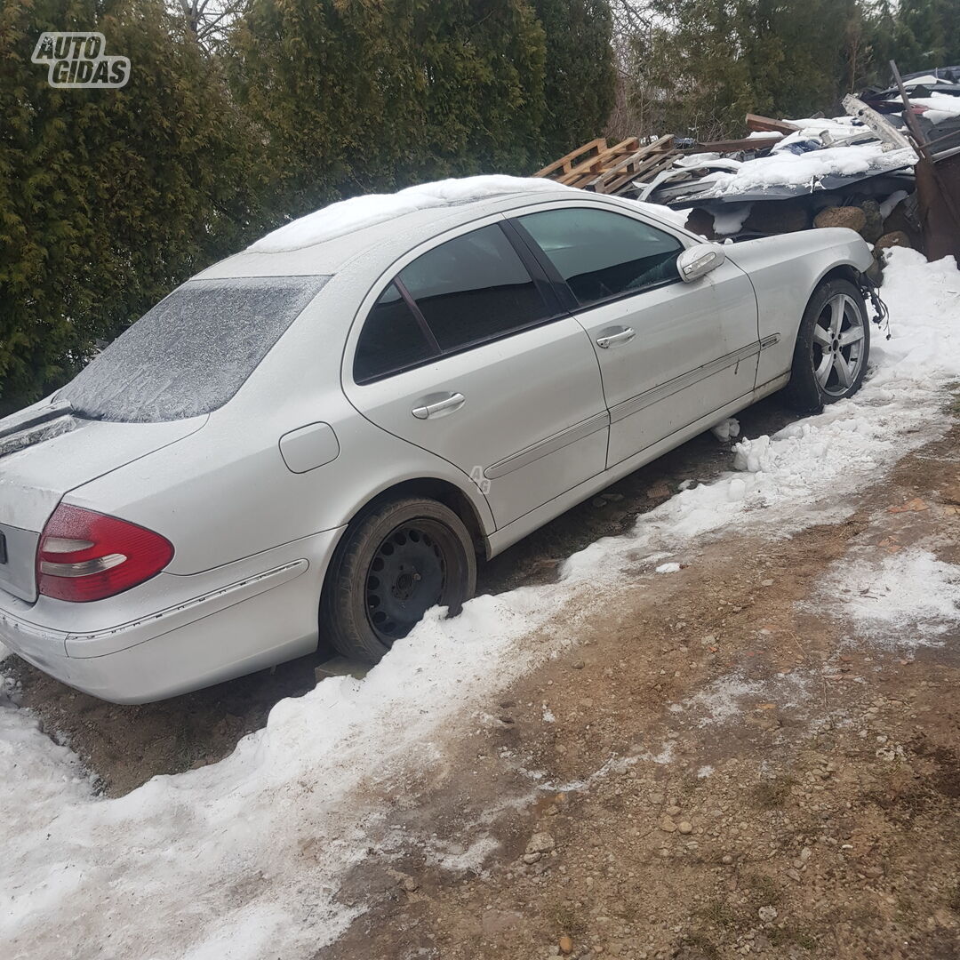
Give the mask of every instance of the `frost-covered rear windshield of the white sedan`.
[(190, 280), (57, 395), (93, 420), (155, 422), (222, 407), (329, 276)]

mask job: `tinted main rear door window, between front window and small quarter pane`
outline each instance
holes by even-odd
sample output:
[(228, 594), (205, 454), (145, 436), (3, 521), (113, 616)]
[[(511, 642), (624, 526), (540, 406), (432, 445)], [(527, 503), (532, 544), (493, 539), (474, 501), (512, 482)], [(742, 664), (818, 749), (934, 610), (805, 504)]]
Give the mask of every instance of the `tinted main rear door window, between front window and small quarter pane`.
[(550, 315), (537, 284), (496, 225), (424, 253), (400, 272), (399, 279), (444, 352), (537, 324)]

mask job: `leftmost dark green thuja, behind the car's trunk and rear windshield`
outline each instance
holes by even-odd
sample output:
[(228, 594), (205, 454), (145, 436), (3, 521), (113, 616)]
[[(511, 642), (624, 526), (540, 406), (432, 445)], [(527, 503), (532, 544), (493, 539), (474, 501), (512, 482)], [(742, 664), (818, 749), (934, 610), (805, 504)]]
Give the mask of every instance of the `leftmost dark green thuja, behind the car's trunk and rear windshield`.
[[(42, 31), (92, 31), (121, 89), (55, 89)], [(0, 410), (42, 396), (251, 226), (244, 125), (160, 0), (0, 8)]]

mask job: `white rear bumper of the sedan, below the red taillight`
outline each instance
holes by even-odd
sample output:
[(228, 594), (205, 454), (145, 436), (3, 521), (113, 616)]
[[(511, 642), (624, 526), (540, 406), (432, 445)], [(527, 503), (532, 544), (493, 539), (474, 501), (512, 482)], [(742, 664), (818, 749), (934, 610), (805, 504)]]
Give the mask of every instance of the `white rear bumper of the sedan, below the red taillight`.
[[(255, 572), (249, 558), (195, 576), (161, 574), (163, 589), (151, 596), (168, 603), (130, 617), (125, 599), (128, 618), (113, 627), (69, 629), (64, 613), (81, 605), (58, 602), (41, 619), (35, 608), (3, 601), (0, 642), (62, 683), (113, 703), (149, 703), (240, 677), (316, 648), (324, 572), (340, 533), (268, 551)], [(246, 575), (236, 579), (239, 572)]]

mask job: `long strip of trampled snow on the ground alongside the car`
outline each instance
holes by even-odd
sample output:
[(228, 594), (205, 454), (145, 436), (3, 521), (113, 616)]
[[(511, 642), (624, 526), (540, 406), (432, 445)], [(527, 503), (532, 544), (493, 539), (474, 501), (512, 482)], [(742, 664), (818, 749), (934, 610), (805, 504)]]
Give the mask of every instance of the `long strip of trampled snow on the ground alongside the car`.
[[(0, 696), (0, 943), (45, 960), (313, 956), (362, 909), (338, 885), (377, 842), (404, 771), (442, 756), (495, 691), (565, 643), (627, 580), (732, 526), (772, 536), (846, 511), (878, 470), (938, 435), (960, 376), (960, 275), (895, 250), (861, 393), (772, 438), (737, 444), (743, 469), (687, 489), (632, 534), (592, 544), (557, 584), (431, 613), (364, 681), (282, 701), (218, 764), (98, 796), (75, 756)], [(592, 605), (592, 607), (591, 607)], [(542, 629), (540, 628), (548, 628)], [(465, 852), (471, 864), (489, 849)], [(457, 854), (450, 861), (457, 865)]]

